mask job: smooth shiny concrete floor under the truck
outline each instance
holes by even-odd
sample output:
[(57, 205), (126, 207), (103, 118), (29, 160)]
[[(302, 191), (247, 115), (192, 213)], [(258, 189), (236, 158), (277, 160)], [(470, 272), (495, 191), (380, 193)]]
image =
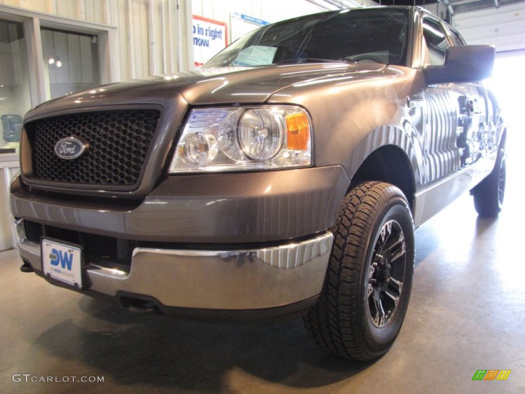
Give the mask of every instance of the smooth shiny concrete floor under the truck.
[[(498, 219), (479, 219), (465, 195), (416, 231), (404, 326), (369, 364), (325, 354), (300, 319), (228, 325), (135, 316), (23, 274), (15, 251), (0, 252), (0, 392), (525, 392), (524, 162), (509, 157)], [(511, 373), (472, 381), (478, 369)], [(103, 382), (15, 382), (14, 374)]]

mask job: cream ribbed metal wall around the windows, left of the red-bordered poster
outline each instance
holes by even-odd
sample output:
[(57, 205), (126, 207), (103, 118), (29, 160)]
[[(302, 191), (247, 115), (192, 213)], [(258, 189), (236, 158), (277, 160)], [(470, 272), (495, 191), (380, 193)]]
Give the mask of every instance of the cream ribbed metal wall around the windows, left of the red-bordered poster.
[(170, 74), (193, 63), (188, 58), (191, 0), (178, 3), (179, 7), (176, 0), (0, 0), (0, 5), (41, 13), (41, 25), (51, 16), (73, 25), (79, 21), (92, 24), (88, 28), (109, 28), (106, 59), (113, 65), (105, 82)]

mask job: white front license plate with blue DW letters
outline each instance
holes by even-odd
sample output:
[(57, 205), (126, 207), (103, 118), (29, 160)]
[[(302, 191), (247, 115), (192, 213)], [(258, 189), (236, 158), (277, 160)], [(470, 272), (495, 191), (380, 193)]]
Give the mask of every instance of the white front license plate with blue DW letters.
[(58, 282), (82, 288), (82, 248), (62, 241), (42, 239), (42, 271)]

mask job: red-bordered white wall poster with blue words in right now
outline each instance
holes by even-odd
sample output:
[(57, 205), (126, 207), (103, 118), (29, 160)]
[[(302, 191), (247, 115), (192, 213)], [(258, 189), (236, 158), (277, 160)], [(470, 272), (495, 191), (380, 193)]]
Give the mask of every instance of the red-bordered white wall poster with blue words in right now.
[(193, 56), (200, 67), (228, 45), (228, 26), (224, 22), (193, 15)]

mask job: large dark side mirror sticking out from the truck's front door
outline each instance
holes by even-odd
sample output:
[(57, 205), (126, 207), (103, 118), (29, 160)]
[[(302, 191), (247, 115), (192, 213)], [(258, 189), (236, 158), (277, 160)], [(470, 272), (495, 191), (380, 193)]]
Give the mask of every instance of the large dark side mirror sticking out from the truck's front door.
[(495, 57), (493, 45), (449, 47), (444, 65), (425, 67), (425, 80), (428, 85), (481, 81), (492, 74)]

